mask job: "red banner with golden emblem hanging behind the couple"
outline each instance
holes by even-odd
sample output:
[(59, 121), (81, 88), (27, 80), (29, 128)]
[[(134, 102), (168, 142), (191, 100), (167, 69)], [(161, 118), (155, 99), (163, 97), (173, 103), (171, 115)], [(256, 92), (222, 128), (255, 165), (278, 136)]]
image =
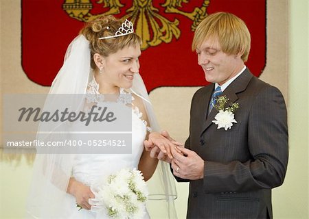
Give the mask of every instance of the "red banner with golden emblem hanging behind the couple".
[(266, 64), (266, 0), (22, 0), (22, 66), (35, 83), (50, 86), (69, 42), (100, 14), (126, 17), (141, 35), (140, 73), (148, 91), (207, 84), (191, 51), (196, 25), (214, 12), (236, 14), (251, 32), (247, 66), (260, 76)]

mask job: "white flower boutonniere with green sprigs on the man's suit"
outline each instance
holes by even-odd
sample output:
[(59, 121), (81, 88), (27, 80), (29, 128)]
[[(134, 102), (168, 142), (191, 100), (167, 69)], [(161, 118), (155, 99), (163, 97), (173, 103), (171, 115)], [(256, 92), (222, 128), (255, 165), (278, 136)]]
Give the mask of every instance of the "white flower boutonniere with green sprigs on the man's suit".
[(238, 103), (231, 103), (229, 107), (226, 107), (228, 103), (229, 99), (227, 96), (219, 96), (216, 99), (216, 105), (214, 107), (219, 112), (215, 116), (216, 120), (212, 120), (212, 122), (218, 125), (217, 129), (224, 128), (227, 131), (227, 129), (231, 129), (233, 123), (237, 123), (233, 113), (239, 108), (239, 105)]

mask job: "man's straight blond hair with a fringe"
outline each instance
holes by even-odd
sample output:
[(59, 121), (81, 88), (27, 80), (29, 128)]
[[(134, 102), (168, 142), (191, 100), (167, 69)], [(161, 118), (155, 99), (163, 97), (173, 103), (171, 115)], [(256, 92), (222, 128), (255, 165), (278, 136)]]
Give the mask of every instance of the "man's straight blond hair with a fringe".
[(247, 62), (251, 37), (246, 24), (238, 16), (227, 12), (207, 16), (196, 27), (192, 51), (195, 51), (206, 40), (218, 40), (222, 52), (229, 55), (242, 53), (242, 60)]

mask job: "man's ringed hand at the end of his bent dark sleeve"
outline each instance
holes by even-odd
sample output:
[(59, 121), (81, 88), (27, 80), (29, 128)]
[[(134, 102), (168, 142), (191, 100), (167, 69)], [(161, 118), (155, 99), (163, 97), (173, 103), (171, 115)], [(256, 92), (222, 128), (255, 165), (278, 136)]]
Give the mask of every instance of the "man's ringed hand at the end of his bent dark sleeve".
[(182, 179), (203, 179), (204, 178), (204, 160), (194, 151), (177, 146), (181, 153), (172, 151), (173, 174)]

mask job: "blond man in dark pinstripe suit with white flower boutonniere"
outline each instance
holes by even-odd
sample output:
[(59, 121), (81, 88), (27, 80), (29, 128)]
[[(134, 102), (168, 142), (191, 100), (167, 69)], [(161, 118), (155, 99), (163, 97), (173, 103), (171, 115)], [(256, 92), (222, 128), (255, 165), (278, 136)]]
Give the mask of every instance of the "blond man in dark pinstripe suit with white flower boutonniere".
[(185, 148), (165, 150), (169, 159), (151, 134), (145, 142), (152, 157), (171, 163), (177, 181), (190, 181), (187, 218), (273, 217), (271, 189), (282, 185), (288, 163), (286, 105), (244, 65), (250, 41), (237, 16), (207, 16), (192, 49), (211, 85), (193, 96)]

